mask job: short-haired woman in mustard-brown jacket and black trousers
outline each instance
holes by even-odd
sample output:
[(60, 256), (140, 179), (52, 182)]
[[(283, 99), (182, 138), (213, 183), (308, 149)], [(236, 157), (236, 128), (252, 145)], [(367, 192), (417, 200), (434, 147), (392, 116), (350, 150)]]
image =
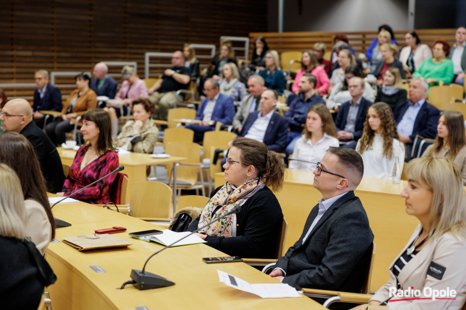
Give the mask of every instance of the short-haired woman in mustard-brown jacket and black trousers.
[[(78, 88), (69, 95), (62, 108), (62, 116), (46, 126), (47, 136), (55, 145), (61, 145), (67, 140), (66, 133), (74, 129), (78, 116), (97, 107), (97, 94), (89, 88), (91, 78), (85, 73), (80, 73), (75, 79)], [(79, 121), (78, 125), (81, 124), (83, 122)]]

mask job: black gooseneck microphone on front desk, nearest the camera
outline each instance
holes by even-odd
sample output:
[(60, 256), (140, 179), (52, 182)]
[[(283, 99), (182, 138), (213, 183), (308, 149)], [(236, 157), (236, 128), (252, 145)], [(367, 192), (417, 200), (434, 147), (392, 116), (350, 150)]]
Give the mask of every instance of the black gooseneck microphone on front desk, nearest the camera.
[(174, 282), (170, 281), (169, 279), (165, 279), (163, 277), (160, 277), (156, 274), (153, 274), (153, 273), (150, 273), (150, 272), (146, 272), (146, 265), (147, 263), (149, 262), (149, 260), (156, 254), (162, 252), (163, 250), (165, 250), (166, 248), (169, 248), (171, 246), (173, 246), (174, 244), (176, 244), (177, 242), (183, 240), (184, 238), (187, 238), (189, 237), (190, 235), (192, 235), (193, 233), (197, 233), (199, 232), (201, 229), (209, 226), (210, 224), (213, 224), (215, 223), (216, 221), (224, 218), (224, 217), (228, 217), (229, 215), (232, 215), (233, 213), (239, 213), (239, 211), (241, 211), (241, 206), (237, 205), (235, 206), (230, 212), (228, 212), (227, 214), (225, 214), (224, 216), (222, 217), (217, 217), (216, 219), (214, 219), (212, 222), (202, 226), (201, 228), (198, 228), (197, 230), (195, 230), (194, 232), (190, 233), (190, 234), (187, 234), (185, 235), (183, 238), (173, 242), (172, 244), (166, 246), (165, 248), (162, 248), (160, 250), (158, 250), (157, 252), (155, 252), (154, 254), (150, 255), (149, 258), (147, 259), (146, 263), (144, 263), (144, 267), (142, 267), (142, 271), (141, 270), (136, 270), (136, 269), (133, 269), (131, 270), (131, 279), (133, 279), (132, 281), (127, 281), (125, 283), (123, 283), (123, 285), (121, 286), (121, 289), (123, 289), (125, 287), (126, 284), (133, 284), (133, 286), (135, 288), (137, 288), (138, 290), (150, 290), (150, 289), (156, 289), (156, 288), (160, 288), (160, 287), (166, 287), (166, 286), (171, 286), (171, 285), (175, 285)]

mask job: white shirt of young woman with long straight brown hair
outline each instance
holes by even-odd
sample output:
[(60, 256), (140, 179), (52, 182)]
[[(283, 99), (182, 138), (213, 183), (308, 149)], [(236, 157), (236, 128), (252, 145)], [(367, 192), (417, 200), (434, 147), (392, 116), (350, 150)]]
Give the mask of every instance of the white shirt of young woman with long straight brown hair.
[[(296, 141), (293, 156), (290, 159), (289, 169), (314, 171), (317, 162), (321, 161), (327, 150), (331, 146), (339, 146), (338, 139), (324, 134), (317, 141), (316, 145), (312, 145), (311, 139), (304, 140), (304, 135)], [(300, 161), (302, 160), (302, 161)]]

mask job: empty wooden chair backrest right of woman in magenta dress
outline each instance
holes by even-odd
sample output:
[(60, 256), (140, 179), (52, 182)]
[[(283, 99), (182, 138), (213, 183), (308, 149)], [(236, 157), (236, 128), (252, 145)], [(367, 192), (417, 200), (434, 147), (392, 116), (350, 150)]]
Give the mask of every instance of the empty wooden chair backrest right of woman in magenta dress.
[(130, 206), (133, 217), (168, 218), (172, 190), (160, 182), (137, 182), (131, 188)]

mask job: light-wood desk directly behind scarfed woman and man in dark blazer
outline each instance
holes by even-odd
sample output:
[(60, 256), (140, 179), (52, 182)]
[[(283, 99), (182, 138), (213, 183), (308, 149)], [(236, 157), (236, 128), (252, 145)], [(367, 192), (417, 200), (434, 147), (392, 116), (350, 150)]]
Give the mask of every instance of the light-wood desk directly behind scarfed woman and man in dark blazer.
[[(300, 238), (304, 224), (311, 209), (322, 198), (313, 184), (311, 171), (286, 169), (283, 189), (276, 192), (283, 216), (288, 221), (285, 247), (289, 248)], [(224, 174), (216, 173), (215, 184), (224, 184)], [(405, 200), (399, 194), (406, 186), (391, 180), (363, 178), (354, 191), (359, 197), (369, 218), (376, 244), (374, 269), (371, 278), (371, 291), (377, 291), (389, 277), (388, 266), (403, 249), (418, 225), (416, 217), (405, 212)]]

